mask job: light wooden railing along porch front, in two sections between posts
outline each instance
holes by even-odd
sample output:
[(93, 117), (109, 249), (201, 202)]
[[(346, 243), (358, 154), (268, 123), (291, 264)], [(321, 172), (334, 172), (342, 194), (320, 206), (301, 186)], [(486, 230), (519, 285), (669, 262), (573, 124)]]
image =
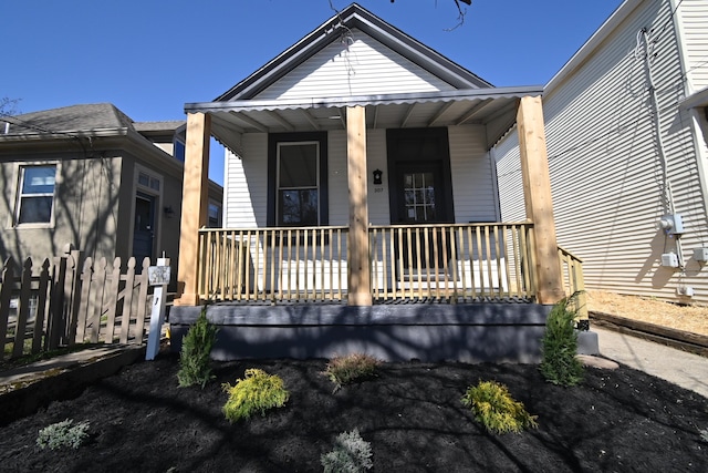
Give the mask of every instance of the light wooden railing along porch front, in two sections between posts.
[[(343, 302), (348, 228), (199, 232), (201, 299)], [(372, 296), (529, 299), (535, 295), (529, 223), (371, 226)]]

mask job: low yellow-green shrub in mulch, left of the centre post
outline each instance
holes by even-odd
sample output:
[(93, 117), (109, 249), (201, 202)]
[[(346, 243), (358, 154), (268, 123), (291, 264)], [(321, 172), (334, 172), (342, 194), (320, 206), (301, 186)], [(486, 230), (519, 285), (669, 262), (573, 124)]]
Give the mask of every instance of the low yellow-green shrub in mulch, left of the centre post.
[(229, 393), (229, 400), (222, 411), (229, 422), (249, 419), (253, 413), (272, 408), (282, 408), (290, 398), (279, 376), (268, 374), (263, 370), (246, 370), (244, 379), (236, 380), (236, 384), (225, 383), (223, 390)]

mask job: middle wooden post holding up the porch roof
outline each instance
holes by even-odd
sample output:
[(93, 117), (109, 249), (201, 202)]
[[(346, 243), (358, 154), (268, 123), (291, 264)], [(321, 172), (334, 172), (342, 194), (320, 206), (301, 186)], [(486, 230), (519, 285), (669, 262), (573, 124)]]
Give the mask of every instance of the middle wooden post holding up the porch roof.
[(366, 183), (366, 109), (346, 109), (346, 175), (350, 186), (347, 304), (371, 306), (368, 197)]

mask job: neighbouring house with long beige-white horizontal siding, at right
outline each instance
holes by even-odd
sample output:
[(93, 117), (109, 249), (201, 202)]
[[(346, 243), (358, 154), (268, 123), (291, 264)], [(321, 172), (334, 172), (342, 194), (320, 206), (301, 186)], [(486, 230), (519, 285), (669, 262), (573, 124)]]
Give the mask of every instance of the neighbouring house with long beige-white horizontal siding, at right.
[[(627, 0), (543, 94), (558, 240), (589, 289), (708, 304), (708, 3)], [(496, 150), (519, 218), (516, 133)]]

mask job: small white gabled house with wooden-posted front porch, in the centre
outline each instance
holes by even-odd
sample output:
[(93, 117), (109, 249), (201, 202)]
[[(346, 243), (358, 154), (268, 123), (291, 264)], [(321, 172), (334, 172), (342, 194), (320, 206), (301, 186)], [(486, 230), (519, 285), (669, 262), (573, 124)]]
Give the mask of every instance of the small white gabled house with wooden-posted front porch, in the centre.
[[(353, 3), (186, 104), (173, 341), (210, 300), (215, 358), (538, 358), (566, 295), (542, 92), (494, 88)], [(492, 150), (514, 123), (529, 218), (504, 223)], [(211, 136), (222, 229), (200, 229)]]

